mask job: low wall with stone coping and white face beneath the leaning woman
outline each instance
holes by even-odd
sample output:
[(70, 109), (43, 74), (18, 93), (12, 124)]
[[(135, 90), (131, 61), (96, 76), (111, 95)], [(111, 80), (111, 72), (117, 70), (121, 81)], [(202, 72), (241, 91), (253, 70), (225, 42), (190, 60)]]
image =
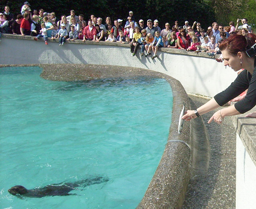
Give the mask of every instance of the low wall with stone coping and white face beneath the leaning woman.
[[(255, 112), (254, 107), (250, 112)], [(232, 116), (236, 137), (236, 208), (255, 208), (256, 118)]]

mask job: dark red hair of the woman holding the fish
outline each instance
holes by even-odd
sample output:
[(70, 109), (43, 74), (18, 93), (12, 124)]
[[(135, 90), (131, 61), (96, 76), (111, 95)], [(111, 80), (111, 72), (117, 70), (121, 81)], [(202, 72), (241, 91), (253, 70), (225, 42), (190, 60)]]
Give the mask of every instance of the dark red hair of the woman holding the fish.
[(249, 33), (245, 36), (243, 35), (231, 35), (223, 42), (221, 42), (219, 48), (221, 51), (227, 50), (229, 54), (234, 56), (237, 55), (239, 51), (245, 51), (255, 44), (256, 35)]

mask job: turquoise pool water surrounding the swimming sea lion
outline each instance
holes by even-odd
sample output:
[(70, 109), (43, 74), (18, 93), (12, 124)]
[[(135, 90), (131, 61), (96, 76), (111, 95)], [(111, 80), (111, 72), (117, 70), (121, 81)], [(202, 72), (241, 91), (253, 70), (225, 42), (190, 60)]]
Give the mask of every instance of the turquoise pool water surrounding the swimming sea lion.
[[(0, 68), (1, 208), (135, 208), (167, 141), (170, 85), (145, 77), (55, 82), (41, 70)], [(109, 181), (72, 196), (8, 193), (94, 176)]]

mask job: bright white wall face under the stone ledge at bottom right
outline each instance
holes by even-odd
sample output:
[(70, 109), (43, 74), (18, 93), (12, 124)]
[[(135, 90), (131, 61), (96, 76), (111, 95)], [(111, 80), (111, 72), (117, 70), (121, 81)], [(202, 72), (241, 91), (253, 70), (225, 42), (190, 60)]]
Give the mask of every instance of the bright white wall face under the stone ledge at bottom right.
[(256, 167), (236, 134), (236, 209), (254, 209), (256, 195)]

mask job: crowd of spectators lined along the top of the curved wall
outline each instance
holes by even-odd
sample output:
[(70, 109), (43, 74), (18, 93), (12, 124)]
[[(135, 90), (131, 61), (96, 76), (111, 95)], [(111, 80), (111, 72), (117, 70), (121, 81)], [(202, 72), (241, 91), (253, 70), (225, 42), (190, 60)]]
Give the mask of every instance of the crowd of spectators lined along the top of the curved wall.
[(230, 35), (245, 35), (252, 32), (246, 18), (237, 19), (236, 26), (233, 21), (225, 27), (214, 22), (207, 27), (207, 30), (196, 21), (192, 26), (188, 21), (180, 26), (178, 20), (172, 27), (169, 23), (165, 23), (165, 28), (161, 29), (158, 20), (148, 19), (146, 25), (142, 19), (137, 22), (133, 11), (129, 11), (126, 20), (116, 19), (112, 23), (111, 18), (107, 17), (103, 24), (101, 17), (92, 14), (89, 20), (85, 21), (84, 15), (76, 16), (73, 9), (70, 15), (62, 15), (58, 19), (54, 12), (48, 13), (44, 9), (32, 11), (30, 7), (29, 2), (24, 2), (21, 13), (15, 19), (9, 6), (5, 6), (5, 11), (0, 13), (0, 37), (1, 33), (34, 36), (36, 41), (43, 37), (46, 45), (49, 38), (59, 39), (59, 46), (63, 46), (66, 40), (76, 39), (84, 42), (87, 40), (118, 42), (129, 44), (132, 56), (135, 56), (139, 46), (141, 56), (151, 55), (152, 50), (152, 59), (154, 59), (160, 47), (179, 48), (197, 53), (206, 52), (213, 57), (221, 53), (219, 44)]

